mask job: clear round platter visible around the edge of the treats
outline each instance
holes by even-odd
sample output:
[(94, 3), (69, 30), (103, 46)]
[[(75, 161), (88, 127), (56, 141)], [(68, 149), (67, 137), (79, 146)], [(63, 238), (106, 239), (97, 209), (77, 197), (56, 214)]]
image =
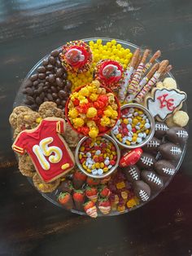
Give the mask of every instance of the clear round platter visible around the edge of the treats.
[[(114, 38), (99, 38), (99, 39), (102, 39), (103, 40), (103, 44), (106, 44), (107, 42), (111, 41), (112, 39)], [(94, 41), (96, 42), (98, 40), (98, 38), (85, 38), (85, 39), (81, 39), (85, 42), (89, 42), (89, 41)], [(130, 51), (134, 51), (136, 48), (138, 48), (139, 46), (136, 46), (134, 45), (133, 43), (130, 43), (130, 42), (125, 42), (125, 41), (122, 41), (122, 40), (119, 40), (119, 39), (116, 39), (116, 42), (120, 43), (121, 46), (123, 46), (124, 48), (129, 48)], [(63, 42), (64, 44), (65, 42)], [(58, 47), (57, 50), (60, 50), (62, 48), (62, 46)], [(47, 57), (48, 55), (44, 56), (41, 60), (39, 60), (37, 62), (37, 64), (35, 64), (33, 66), (33, 68), (29, 71), (28, 75), (25, 77), (24, 79), (24, 82), (25, 80), (30, 77), (31, 75), (33, 75), (33, 73), (36, 72), (37, 68), (42, 64), (42, 61)], [(157, 62), (159, 62), (159, 60), (157, 60)], [(168, 73), (166, 75), (166, 77), (172, 77), (173, 79), (175, 79), (173, 76), (172, 76), (172, 73)], [(13, 108), (17, 107), (17, 106), (20, 106), (20, 105), (24, 105), (24, 95), (22, 93), (22, 90), (24, 89), (24, 82), (22, 83), (22, 85), (20, 86), (20, 90), (18, 91), (16, 97), (15, 97), (15, 102), (13, 104)], [(184, 103), (183, 106), (182, 106), (182, 109), (187, 112), (187, 108), (186, 108), (186, 104)], [(186, 130), (188, 130), (188, 127), (185, 127)], [(176, 166), (176, 172), (175, 174), (177, 173), (177, 171), (179, 170), (180, 166), (181, 166), (181, 163), (185, 157), (185, 150), (186, 150), (186, 143), (185, 145), (182, 147), (182, 154), (181, 154), (181, 158), (179, 159), (179, 161), (177, 161), (177, 166)], [(175, 175), (174, 174), (174, 175)], [(137, 208), (141, 207), (142, 205), (145, 205), (146, 203), (148, 203), (149, 201), (153, 200), (156, 196), (159, 195), (159, 193), (161, 191), (164, 190), (164, 188), (166, 188), (168, 186), (168, 183), (171, 182), (172, 178), (174, 177), (174, 175), (172, 175), (170, 178), (167, 179), (167, 181), (164, 183), (164, 187), (162, 189), (160, 189), (158, 192), (156, 192), (155, 194), (153, 194), (150, 199), (146, 202), (141, 202), (139, 205), (137, 206), (134, 206), (133, 208), (131, 209), (126, 209), (124, 210), (124, 212), (118, 212), (118, 211), (111, 211), (110, 214), (107, 214), (107, 215), (103, 215), (103, 214), (100, 214), (99, 211), (98, 211), (98, 216), (103, 216), (103, 217), (107, 217), (107, 216), (112, 216), (112, 215), (118, 215), (118, 214), (125, 214), (129, 211), (132, 211), (132, 210), (136, 210)], [(31, 178), (28, 178), (28, 181), (29, 183), (31, 183), (33, 185), (33, 181)], [(58, 195), (58, 191), (57, 189), (54, 191), (54, 192), (50, 192), (50, 193), (43, 193), (43, 192), (40, 192), (41, 193), (41, 196), (44, 196), (48, 201), (50, 201), (51, 203), (53, 203), (54, 205), (57, 205), (61, 208), (63, 208), (62, 205), (60, 205), (58, 203), (58, 201), (56, 201), (56, 195)], [(64, 209), (64, 208), (63, 208)], [(78, 211), (78, 210), (71, 210), (72, 213), (75, 213), (75, 214), (81, 214), (81, 215), (86, 215), (85, 212), (81, 212), (81, 211)]]

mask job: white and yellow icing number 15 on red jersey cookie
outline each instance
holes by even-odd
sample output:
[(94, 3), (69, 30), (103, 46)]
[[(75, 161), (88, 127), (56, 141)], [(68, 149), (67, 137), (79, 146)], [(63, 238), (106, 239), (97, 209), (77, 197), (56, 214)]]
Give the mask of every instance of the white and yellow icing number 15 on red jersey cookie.
[[(63, 157), (63, 152), (59, 147), (50, 146), (54, 139), (52, 137), (48, 137), (45, 139), (41, 139), (39, 145), (33, 146), (33, 152), (36, 155), (42, 169), (49, 170), (50, 163), (58, 163)], [(46, 157), (49, 157), (49, 161), (46, 160)]]

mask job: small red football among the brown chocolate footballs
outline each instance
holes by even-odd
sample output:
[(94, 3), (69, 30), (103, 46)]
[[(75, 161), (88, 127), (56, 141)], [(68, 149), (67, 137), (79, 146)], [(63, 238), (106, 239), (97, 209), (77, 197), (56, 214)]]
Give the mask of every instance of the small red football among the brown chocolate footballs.
[(125, 153), (123, 157), (120, 158), (120, 166), (131, 166), (137, 163), (139, 158), (142, 156), (142, 148), (136, 148), (130, 150), (129, 152)]

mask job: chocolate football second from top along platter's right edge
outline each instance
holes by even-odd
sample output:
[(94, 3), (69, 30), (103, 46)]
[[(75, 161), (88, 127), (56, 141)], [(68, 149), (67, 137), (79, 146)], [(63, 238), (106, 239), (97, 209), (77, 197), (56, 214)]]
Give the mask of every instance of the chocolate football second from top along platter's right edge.
[(176, 144), (164, 143), (160, 145), (159, 152), (164, 159), (176, 161), (181, 157), (182, 150)]

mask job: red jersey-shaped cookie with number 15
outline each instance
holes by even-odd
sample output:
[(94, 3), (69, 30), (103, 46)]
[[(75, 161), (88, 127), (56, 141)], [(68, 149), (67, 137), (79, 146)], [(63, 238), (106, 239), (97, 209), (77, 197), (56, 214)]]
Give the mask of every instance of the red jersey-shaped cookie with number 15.
[(33, 130), (24, 130), (15, 139), (12, 148), (21, 155), (28, 152), (37, 173), (44, 182), (50, 183), (67, 174), (75, 165), (74, 157), (63, 134), (65, 121), (48, 117)]

